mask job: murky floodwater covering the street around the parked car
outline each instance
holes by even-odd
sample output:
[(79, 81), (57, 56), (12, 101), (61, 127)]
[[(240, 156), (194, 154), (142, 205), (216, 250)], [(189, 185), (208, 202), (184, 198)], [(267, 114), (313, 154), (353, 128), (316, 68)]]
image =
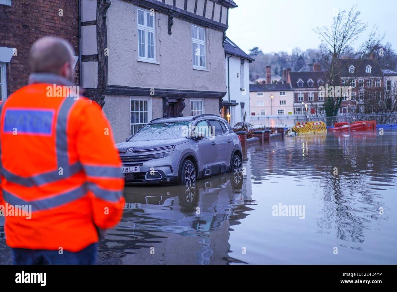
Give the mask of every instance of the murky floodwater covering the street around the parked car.
[(285, 137), (243, 173), (126, 187), (98, 263), (396, 264), (396, 153), (395, 130)]

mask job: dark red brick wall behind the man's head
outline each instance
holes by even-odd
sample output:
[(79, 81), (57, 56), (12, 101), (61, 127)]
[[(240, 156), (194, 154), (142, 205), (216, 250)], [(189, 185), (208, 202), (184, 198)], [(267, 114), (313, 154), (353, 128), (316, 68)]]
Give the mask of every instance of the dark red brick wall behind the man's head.
[[(7, 64), (7, 95), (27, 84), (29, 48), (46, 35), (67, 39), (79, 53), (79, 6), (77, 0), (12, 0), (0, 5), (0, 46), (16, 48), (17, 55)], [(63, 16), (59, 15), (63, 10)], [(79, 62), (76, 64), (79, 82)]]

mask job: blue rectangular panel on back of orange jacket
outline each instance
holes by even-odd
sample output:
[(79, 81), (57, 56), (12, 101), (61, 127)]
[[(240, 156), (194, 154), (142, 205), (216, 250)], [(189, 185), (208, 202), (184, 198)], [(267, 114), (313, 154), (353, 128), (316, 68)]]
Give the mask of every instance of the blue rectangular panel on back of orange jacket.
[(4, 133), (52, 134), (53, 110), (7, 108), (4, 114)]

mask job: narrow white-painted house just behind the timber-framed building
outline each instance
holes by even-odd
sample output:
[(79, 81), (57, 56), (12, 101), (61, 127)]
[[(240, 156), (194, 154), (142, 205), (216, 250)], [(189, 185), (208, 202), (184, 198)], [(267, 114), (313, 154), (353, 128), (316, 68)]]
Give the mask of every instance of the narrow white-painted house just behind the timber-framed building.
[(222, 117), (233, 127), (247, 112), (249, 121), (249, 63), (254, 61), (228, 37), (224, 41), (226, 95), (222, 101)]

